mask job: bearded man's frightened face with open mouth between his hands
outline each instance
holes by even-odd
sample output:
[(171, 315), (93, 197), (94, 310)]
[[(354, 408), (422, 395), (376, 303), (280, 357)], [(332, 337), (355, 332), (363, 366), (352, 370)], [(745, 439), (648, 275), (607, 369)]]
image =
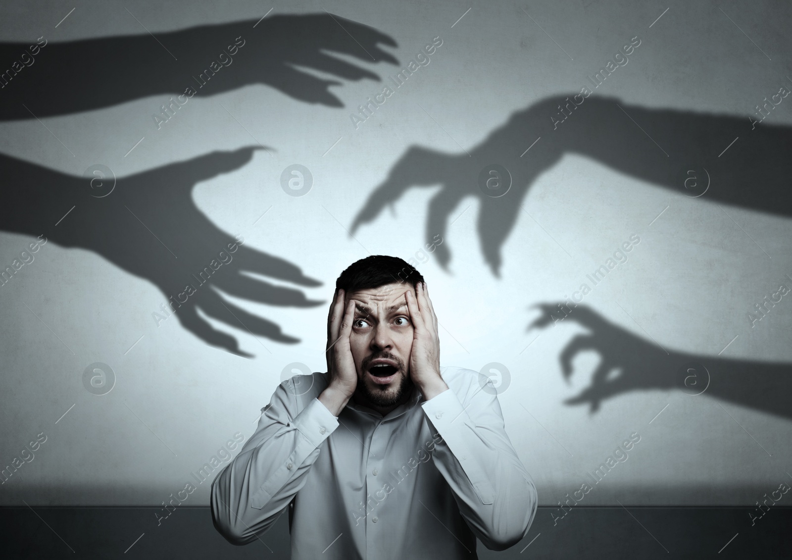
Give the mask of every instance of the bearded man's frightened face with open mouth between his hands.
[(394, 282), (353, 291), (345, 298), (359, 302), (349, 335), (358, 379), (355, 393), (377, 406), (398, 404), (413, 388), (409, 376), (413, 322), (407, 291), (415, 295), (411, 284)]

